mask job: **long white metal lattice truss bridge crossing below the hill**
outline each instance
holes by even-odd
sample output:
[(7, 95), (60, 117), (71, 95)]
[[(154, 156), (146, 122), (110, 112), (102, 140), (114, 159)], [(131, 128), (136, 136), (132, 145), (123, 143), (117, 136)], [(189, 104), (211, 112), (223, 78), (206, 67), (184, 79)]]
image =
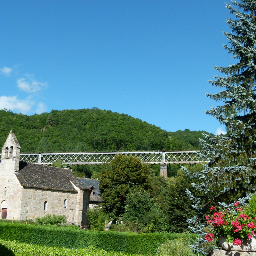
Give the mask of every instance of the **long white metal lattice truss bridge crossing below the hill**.
[(20, 154), (20, 161), (34, 164), (52, 164), (57, 160), (62, 164), (109, 164), (117, 155), (137, 156), (148, 164), (196, 164), (203, 161), (196, 151), (26, 153)]

